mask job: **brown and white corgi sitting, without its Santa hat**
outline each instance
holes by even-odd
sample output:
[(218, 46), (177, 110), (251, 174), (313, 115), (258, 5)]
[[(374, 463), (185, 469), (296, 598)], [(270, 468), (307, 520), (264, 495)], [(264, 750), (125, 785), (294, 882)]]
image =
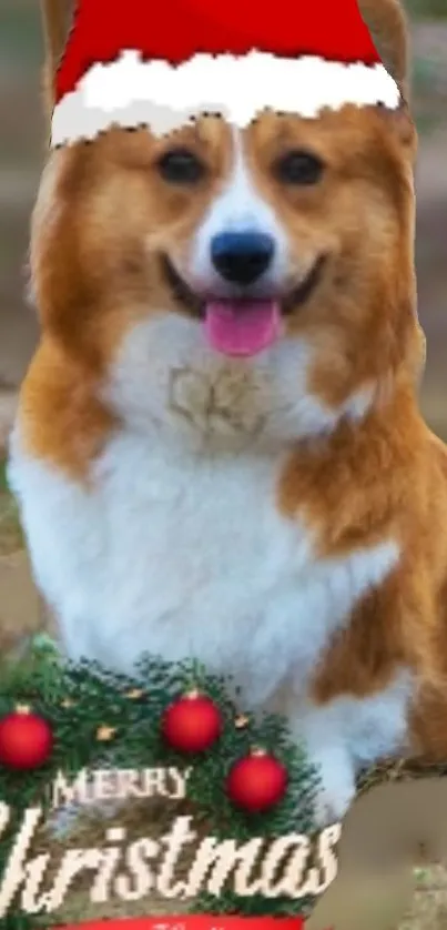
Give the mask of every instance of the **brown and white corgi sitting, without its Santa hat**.
[[(397, 0), (363, 0), (396, 80)], [(369, 19), (368, 19), (369, 18)], [(195, 657), (283, 715), (321, 822), (447, 755), (447, 453), (418, 408), (408, 105), (51, 152), (9, 476), (71, 659)]]

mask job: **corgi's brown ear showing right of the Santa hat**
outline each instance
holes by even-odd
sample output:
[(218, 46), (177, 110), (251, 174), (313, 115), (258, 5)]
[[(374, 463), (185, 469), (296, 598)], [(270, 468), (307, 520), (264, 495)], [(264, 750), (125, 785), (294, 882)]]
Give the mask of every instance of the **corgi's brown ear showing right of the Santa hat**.
[(385, 68), (408, 101), (409, 33), (399, 0), (358, 0), (358, 8)]

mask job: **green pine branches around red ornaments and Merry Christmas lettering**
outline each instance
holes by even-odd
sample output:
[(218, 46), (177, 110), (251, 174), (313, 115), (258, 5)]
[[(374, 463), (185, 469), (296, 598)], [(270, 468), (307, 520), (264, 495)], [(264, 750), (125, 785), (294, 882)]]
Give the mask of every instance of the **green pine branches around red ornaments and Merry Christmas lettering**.
[[(224, 725), (217, 742), (193, 759), (166, 746), (160, 729), (166, 706), (192, 687), (215, 701)], [(135, 690), (141, 695), (130, 699), (129, 693)], [(237, 728), (235, 720), (241, 708), (228, 697), (228, 681), (207, 674), (197, 663), (170, 664), (145, 657), (135, 675), (128, 677), (94, 663), (65, 664), (51, 640), (39, 637), (20, 664), (3, 667), (1, 671), (0, 717), (12, 711), (17, 704), (29, 704), (33, 711), (47, 718), (53, 729), (54, 750), (48, 762), (33, 772), (10, 771), (0, 766), (0, 798), (13, 809), (8, 833), (0, 841), (0, 877), (24, 809), (35, 802), (48, 805), (48, 787), (61, 770), (74, 777), (83, 768), (175, 766), (181, 769), (193, 762), (187, 797), (197, 819), (205, 820), (210, 833), (219, 839), (274, 838), (287, 833), (291, 822), (298, 832), (315, 830), (316, 772), (291, 740), (284, 721), (266, 717)], [(101, 726), (114, 728), (111, 742), (98, 740)], [(285, 798), (264, 815), (238, 810), (225, 793), (232, 764), (253, 746), (274, 752), (289, 776)], [(308, 907), (308, 900), (241, 898), (228, 890), (219, 899), (201, 894), (191, 910), (282, 916), (306, 914)], [(1, 927), (2, 930), (38, 930), (52, 922), (48, 916), (20, 913), (17, 904), (12, 904)]]

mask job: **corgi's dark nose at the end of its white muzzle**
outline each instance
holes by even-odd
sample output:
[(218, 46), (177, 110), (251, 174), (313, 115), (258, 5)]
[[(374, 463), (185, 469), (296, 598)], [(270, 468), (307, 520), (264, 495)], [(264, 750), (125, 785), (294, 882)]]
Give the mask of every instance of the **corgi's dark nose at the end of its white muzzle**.
[(211, 243), (211, 259), (231, 284), (254, 284), (267, 270), (274, 253), (272, 236), (258, 232), (225, 232)]

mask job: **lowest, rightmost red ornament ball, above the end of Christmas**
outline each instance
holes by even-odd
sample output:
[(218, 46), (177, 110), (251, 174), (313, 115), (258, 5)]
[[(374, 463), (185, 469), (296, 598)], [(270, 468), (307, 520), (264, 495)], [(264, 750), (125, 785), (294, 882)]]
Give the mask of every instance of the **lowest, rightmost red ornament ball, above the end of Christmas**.
[(250, 813), (260, 813), (283, 799), (287, 781), (285, 766), (268, 752), (255, 749), (230, 769), (226, 793), (236, 807)]

